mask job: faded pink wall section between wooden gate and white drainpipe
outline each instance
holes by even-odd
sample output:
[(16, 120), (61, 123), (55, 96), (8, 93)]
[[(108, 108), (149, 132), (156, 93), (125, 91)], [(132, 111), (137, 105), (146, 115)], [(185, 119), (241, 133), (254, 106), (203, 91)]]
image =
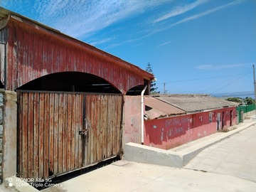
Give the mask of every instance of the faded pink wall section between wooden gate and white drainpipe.
[(129, 142), (141, 143), (141, 114), (141, 96), (124, 96), (123, 146)]

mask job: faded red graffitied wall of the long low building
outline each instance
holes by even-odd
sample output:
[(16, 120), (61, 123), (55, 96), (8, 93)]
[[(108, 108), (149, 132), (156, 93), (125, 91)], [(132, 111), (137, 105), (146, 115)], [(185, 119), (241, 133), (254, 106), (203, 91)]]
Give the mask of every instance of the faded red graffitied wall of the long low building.
[(149, 119), (144, 121), (144, 124), (145, 145), (171, 149), (234, 125), (235, 107), (178, 117)]

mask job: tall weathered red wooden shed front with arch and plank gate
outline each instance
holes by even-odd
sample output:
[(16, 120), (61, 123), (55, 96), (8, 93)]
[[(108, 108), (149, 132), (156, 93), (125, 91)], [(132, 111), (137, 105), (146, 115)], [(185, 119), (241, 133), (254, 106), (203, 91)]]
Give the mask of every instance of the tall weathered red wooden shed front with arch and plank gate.
[[(49, 178), (119, 156), (124, 95), (154, 76), (0, 8), (1, 88), (17, 93), (17, 174)], [(125, 117), (124, 117), (125, 118)]]

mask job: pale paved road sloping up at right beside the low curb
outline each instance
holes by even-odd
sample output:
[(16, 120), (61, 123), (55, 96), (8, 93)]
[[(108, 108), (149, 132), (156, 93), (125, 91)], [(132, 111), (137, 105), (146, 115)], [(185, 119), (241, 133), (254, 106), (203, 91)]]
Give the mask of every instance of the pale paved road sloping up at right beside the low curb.
[(183, 168), (256, 182), (256, 127), (249, 127), (204, 149)]

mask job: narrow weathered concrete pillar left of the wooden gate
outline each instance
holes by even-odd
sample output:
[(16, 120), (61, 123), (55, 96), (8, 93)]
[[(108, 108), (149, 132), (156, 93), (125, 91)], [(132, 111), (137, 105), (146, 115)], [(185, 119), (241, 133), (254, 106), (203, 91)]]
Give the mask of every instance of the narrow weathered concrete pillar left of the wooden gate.
[(17, 159), (17, 96), (0, 90), (0, 172), (4, 178), (16, 175)]

